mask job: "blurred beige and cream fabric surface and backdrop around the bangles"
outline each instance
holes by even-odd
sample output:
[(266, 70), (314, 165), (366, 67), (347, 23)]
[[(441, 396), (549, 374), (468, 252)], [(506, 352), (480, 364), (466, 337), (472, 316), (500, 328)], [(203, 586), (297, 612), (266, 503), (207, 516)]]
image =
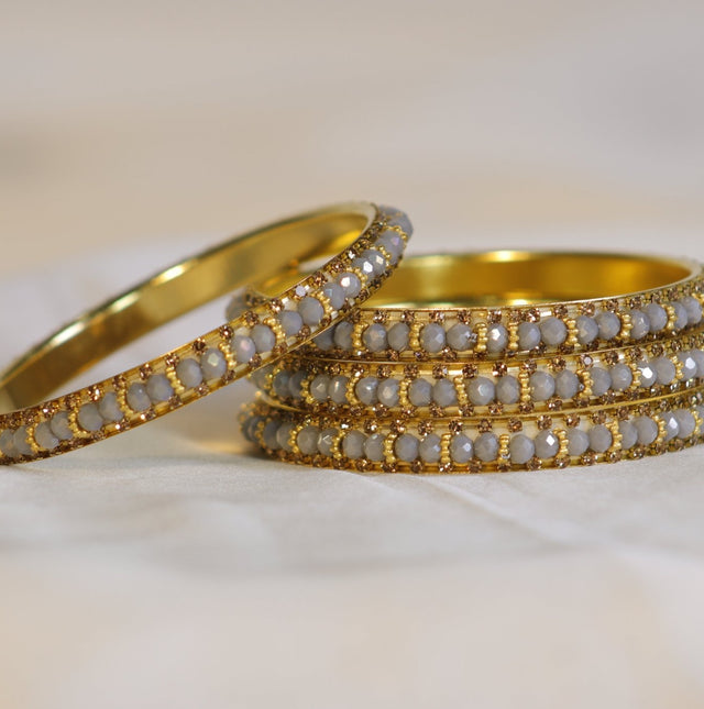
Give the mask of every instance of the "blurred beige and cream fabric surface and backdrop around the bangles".
[[(407, 209), (415, 252), (704, 258), (694, 0), (0, 10), (2, 361), (233, 230), (341, 199)], [(239, 437), (249, 396), (2, 472), (0, 706), (704, 706), (701, 451), (293, 468)]]

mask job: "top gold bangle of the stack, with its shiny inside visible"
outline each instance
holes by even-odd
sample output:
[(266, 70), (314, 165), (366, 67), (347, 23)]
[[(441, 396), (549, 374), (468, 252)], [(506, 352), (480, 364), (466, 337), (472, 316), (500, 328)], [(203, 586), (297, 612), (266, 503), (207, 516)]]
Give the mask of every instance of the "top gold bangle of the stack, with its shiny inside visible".
[[(702, 265), (685, 259), (510, 251), (414, 256), (305, 351), (419, 362), (590, 352), (697, 325), (703, 292)], [(230, 310), (260, 299), (252, 288)]]

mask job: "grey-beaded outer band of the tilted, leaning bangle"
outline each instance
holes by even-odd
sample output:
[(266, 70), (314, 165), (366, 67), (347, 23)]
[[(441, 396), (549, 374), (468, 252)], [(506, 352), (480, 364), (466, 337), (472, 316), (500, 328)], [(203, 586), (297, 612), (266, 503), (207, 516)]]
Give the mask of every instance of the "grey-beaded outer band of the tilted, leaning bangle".
[(343, 254), (279, 298), (139, 368), (0, 416), (0, 463), (46, 457), (120, 433), (280, 357), (376, 290), (409, 235), (407, 218), (382, 208)]

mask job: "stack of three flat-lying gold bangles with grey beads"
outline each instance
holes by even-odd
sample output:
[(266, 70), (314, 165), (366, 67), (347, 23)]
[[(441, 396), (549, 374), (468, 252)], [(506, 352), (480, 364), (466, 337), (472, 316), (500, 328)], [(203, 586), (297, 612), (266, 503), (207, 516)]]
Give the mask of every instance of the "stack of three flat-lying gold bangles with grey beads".
[[(640, 256), (409, 258), (364, 308), (252, 375), (242, 430), (284, 461), (380, 472), (563, 468), (693, 445), (703, 283), (696, 263)], [(248, 290), (231, 314), (262, 298)]]

